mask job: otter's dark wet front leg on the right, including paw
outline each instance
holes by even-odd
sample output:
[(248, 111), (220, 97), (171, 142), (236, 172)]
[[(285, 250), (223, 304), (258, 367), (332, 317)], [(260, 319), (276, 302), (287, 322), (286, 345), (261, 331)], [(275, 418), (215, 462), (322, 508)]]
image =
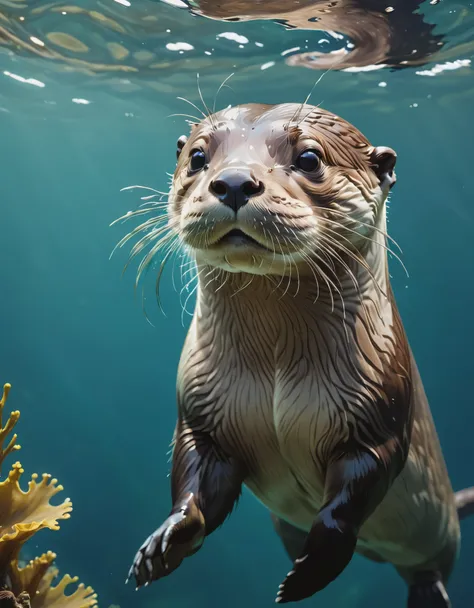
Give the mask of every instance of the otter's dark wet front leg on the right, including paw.
[(295, 602), (324, 589), (348, 565), (364, 521), (387, 492), (386, 463), (369, 451), (346, 453), (326, 473), (324, 504), (276, 602)]

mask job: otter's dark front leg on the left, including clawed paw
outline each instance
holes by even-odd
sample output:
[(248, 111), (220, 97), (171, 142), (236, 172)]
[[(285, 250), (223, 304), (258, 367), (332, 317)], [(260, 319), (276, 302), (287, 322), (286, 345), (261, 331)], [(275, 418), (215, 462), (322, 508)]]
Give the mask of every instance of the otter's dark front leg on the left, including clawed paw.
[(198, 551), (205, 536), (231, 512), (243, 478), (242, 467), (219, 453), (208, 434), (178, 423), (171, 473), (173, 507), (135, 556), (128, 578), (135, 576), (137, 588), (168, 576)]

